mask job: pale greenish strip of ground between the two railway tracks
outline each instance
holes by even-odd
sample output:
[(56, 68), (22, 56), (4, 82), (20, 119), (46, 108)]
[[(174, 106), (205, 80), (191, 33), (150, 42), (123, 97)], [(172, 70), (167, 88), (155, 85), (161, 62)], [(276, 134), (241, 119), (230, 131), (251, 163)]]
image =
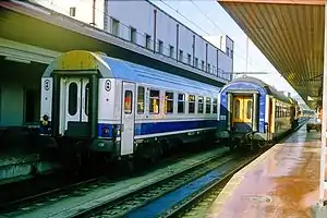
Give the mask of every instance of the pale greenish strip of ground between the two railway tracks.
[[(117, 202), (131, 193), (138, 192), (152, 184), (166, 180), (196, 166), (227, 155), (228, 148), (197, 154), (187, 159), (165, 166), (145, 175), (129, 178), (118, 182), (101, 182), (75, 189), (70, 193), (47, 197), (43, 202), (24, 205), (15, 210), (2, 214), (4, 217), (74, 217), (99, 205)], [(1, 214), (0, 214), (1, 216)]]

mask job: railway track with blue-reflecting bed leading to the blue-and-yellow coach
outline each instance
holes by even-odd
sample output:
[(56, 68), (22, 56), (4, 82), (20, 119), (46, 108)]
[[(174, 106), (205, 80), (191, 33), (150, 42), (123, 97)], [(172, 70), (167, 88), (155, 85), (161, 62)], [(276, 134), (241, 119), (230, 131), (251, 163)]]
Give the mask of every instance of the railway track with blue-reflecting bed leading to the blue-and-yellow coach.
[(227, 155), (75, 217), (174, 217), (194, 195), (227, 181), (256, 157)]

